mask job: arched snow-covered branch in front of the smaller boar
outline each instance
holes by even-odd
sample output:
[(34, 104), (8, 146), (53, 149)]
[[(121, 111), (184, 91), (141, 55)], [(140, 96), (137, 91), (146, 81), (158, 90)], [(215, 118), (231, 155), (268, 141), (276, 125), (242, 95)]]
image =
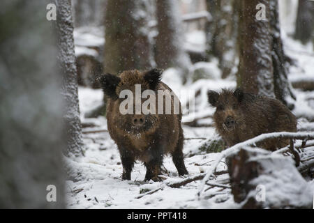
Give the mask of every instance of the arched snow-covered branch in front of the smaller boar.
[(257, 142), (264, 141), (266, 139), (272, 139), (272, 138), (278, 138), (278, 139), (300, 139), (300, 140), (311, 140), (314, 139), (314, 132), (271, 132), (271, 133), (265, 133), (260, 134), (257, 137), (254, 137), (253, 139), (248, 139), (246, 141), (240, 142), (239, 144), (235, 144), (234, 146), (231, 146), (230, 148), (227, 148), (225, 151), (222, 151), (218, 158), (215, 160), (214, 164), (209, 167), (207, 170), (207, 174), (205, 174), (202, 183), (200, 185), (200, 190), (197, 192), (197, 196), (200, 197), (200, 194), (204, 190), (204, 186), (206, 185), (209, 178), (213, 175), (214, 171), (216, 170), (218, 164), (220, 163), (223, 158), (228, 157), (234, 153), (237, 153), (242, 147), (244, 146), (252, 146), (255, 145)]

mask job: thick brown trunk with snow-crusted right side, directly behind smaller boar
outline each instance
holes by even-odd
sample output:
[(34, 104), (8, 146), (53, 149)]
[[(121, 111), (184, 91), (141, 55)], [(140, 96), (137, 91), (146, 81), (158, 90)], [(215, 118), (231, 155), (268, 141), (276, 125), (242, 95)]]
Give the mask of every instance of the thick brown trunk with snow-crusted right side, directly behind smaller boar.
[[(266, 6), (267, 21), (257, 21), (255, 7)], [(242, 0), (239, 25), (238, 86), (246, 92), (274, 97), (269, 1)]]

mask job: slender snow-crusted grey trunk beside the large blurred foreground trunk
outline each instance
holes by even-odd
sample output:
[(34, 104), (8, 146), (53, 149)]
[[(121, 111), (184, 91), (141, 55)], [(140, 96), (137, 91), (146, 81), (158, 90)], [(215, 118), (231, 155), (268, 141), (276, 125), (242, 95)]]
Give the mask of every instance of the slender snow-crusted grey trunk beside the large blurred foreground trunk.
[(61, 92), (65, 102), (64, 123), (68, 147), (63, 151), (66, 156), (80, 156), (82, 151), (82, 130), (80, 108), (77, 96), (77, 70), (73, 40), (73, 20), (70, 0), (57, 0), (58, 59), (62, 73)]

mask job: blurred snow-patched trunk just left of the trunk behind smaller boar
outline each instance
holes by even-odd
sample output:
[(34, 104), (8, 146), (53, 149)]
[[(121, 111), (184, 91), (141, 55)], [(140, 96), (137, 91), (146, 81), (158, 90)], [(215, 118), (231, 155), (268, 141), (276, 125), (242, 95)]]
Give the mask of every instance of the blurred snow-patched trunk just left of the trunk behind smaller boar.
[(207, 10), (213, 20), (207, 22), (207, 56), (216, 56), (222, 77), (232, 72), (237, 49), (238, 1), (234, 0), (207, 0)]

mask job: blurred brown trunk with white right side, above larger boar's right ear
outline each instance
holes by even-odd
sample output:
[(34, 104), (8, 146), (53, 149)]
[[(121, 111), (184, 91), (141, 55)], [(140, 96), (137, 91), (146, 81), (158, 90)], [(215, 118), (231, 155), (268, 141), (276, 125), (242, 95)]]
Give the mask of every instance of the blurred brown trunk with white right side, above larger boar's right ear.
[(184, 52), (184, 33), (177, 1), (156, 0), (158, 36), (156, 38), (156, 63), (158, 68), (175, 67), (181, 70), (185, 82), (191, 66), (190, 58)]

